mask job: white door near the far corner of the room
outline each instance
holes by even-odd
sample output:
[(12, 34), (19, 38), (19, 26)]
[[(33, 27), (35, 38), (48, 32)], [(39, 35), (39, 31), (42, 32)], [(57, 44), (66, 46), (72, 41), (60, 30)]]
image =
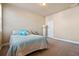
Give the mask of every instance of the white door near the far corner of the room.
[(53, 38), (54, 37), (54, 23), (52, 16), (46, 17), (46, 24), (48, 25), (48, 37)]

